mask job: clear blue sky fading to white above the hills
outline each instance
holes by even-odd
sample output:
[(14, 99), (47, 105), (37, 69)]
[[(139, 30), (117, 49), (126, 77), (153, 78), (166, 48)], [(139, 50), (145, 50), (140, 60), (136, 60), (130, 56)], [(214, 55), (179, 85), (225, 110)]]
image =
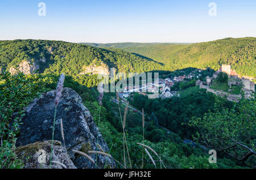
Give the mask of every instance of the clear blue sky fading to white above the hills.
[[(210, 2), (217, 16), (209, 16)], [(202, 42), (256, 37), (256, 1), (1, 0), (0, 24), (0, 40)]]

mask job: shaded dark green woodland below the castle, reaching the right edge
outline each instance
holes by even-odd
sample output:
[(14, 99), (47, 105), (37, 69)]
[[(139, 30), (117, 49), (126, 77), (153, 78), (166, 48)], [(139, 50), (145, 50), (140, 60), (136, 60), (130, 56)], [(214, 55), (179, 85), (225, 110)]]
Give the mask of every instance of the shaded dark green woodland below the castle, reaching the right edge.
[[(220, 157), (232, 157), (237, 165), (255, 167), (255, 156), (250, 154), (255, 149), (254, 99), (242, 98), (236, 103), (190, 87), (179, 97), (148, 99), (135, 94), (130, 102), (138, 109), (144, 108), (148, 116), (151, 114), (149, 121), (155, 127), (166, 127), (179, 138), (217, 149)], [(145, 137), (151, 142), (164, 142), (166, 135), (155, 131)]]

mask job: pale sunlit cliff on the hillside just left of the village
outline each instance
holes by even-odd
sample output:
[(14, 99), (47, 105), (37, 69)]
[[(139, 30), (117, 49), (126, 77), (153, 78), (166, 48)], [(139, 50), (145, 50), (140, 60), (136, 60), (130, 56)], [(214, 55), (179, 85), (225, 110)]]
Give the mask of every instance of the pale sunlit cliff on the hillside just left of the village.
[(100, 66), (96, 66), (94, 64), (83, 67), (82, 72), (80, 74), (102, 74), (102, 75), (110, 75), (109, 66), (105, 63), (101, 63)]

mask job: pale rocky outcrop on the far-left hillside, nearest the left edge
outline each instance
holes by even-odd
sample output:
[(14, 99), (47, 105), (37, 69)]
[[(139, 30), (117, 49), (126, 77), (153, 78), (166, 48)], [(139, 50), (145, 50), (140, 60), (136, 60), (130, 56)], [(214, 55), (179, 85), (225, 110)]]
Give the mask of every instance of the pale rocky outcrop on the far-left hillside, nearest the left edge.
[(23, 74), (34, 74), (37, 70), (39, 70), (39, 65), (35, 62), (23, 61), (17, 68), (11, 67), (9, 71), (12, 75), (14, 75), (18, 72), (23, 72)]

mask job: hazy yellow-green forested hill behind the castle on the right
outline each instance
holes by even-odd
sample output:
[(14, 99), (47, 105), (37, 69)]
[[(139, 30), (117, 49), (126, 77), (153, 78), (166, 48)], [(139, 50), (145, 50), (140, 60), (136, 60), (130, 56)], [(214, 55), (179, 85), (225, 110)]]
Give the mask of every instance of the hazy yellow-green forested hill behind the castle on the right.
[(187, 67), (217, 70), (222, 63), (232, 65), (240, 75), (256, 77), (256, 38), (224, 38), (195, 44), (100, 44), (136, 53), (166, 65), (165, 70)]

